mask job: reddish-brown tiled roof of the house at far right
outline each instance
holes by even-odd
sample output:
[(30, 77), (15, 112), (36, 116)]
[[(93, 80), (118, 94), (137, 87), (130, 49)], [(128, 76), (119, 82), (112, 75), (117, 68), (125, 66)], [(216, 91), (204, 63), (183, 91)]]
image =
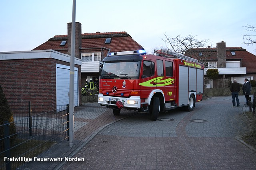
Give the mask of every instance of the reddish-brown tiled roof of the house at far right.
[[(193, 49), (193, 52), (202, 53), (203, 56), (207, 53), (208, 57), (205, 60), (217, 61), (217, 49), (216, 48), (198, 48)], [(232, 55), (231, 52), (234, 51), (236, 55)], [(197, 54), (197, 53), (195, 53)], [(193, 58), (196, 58), (192, 56)], [(252, 53), (246, 51), (242, 47), (226, 47), (226, 60), (227, 61), (240, 61), (242, 60), (242, 67), (246, 67), (247, 73), (256, 73), (256, 56)]]

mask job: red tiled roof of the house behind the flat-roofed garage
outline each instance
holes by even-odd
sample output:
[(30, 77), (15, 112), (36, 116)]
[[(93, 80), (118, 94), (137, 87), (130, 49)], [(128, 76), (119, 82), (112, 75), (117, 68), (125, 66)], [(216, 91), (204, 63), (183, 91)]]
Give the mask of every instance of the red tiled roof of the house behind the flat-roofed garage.
[[(106, 38), (111, 38), (110, 43), (105, 43)], [(63, 40), (67, 40), (68, 35), (55, 35), (42, 45), (34, 48), (33, 50), (46, 50), (52, 49), (56, 51), (67, 51), (68, 43), (64, 46), (60, 46)], [(138, 44), (132, 37), (123, 32), (106, 32), (106, 33), (84, 33), (82, 34), (82, 47), (81, 49), (88, 48), (107, 48), (110, 52), (118, 51), (132, 51), (142, 49), (142, 46)]]

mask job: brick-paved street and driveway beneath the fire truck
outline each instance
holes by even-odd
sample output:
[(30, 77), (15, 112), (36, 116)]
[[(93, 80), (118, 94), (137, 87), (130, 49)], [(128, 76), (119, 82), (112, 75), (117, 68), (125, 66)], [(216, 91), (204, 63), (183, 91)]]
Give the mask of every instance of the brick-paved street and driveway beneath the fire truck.
[(31, 162), (24, 169), (256, 169), (256, 151), (240, 140), (248, 131), (244, 100), (232, 107), (231, 96), (213, 97), (191, 112), (160, 113), (157, 121), (136, 111), (114, 116), (88, 103), (75, 109), (74, 147), (64, 141), (42, 154), (85, 161)]

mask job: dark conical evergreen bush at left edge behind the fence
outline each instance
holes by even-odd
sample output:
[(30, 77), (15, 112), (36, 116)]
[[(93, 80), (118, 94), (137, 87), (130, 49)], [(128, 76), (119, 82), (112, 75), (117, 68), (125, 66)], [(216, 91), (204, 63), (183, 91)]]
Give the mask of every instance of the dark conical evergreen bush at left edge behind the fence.
[[(0, 125), (2, 125), (4, 123), (4, 121), (9, 121), (9, 123), (10, 123), (10, 135), (12, 135), (10, 140), (12, 142), (13, 139), (15, 138), (15, 135), (13, 135), (13, 134), (16, 134), (16, 127), (15, 127), (15, 123), (14, 123), (13, 114), (10, 110), (7, 99), (4, 95), (2, 86), (0, 85)], [(13, 122), (13, 123), (11, 123), (11, 122)], [(0, 127), (0, 139), (2, 139), (3, 137), (4, 137), (4, 128)], [(3, 148), (4, 148), (4, 141), (1, 140), (0, 141), (0, 149), (2, 150)]]

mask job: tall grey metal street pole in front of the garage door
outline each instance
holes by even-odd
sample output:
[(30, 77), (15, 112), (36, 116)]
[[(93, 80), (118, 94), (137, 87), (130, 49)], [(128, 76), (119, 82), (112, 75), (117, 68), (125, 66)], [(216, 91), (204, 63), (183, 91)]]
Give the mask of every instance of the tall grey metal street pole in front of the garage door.
[(74, 75), (75, 75), (75, 33), (76, 33), (76, 0), (73, 0), (71, 49), (70, 49), (70, 79), (69, 79), (69, 146), (74, 146)]

